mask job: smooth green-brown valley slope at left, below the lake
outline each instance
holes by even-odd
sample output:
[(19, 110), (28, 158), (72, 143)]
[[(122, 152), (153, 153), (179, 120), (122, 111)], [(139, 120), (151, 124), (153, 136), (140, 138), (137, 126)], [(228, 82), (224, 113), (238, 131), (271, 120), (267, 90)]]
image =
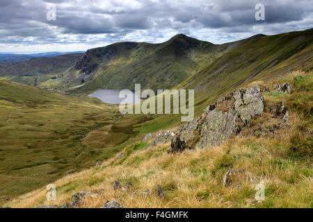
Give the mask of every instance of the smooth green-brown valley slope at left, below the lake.
[(124, 121), (97, 99), (3, 80), (0, 112), (0, 203), (115, 155), (148, 119)]

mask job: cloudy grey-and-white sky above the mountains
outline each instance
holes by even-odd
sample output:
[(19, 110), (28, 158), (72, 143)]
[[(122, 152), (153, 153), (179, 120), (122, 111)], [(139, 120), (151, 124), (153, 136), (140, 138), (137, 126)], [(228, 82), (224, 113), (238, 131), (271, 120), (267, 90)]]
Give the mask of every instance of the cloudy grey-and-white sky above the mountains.
[[(255, 19), (258, 3), (265, 20)], [(222, 44), (312, 24), (312, 0), (0, 0), (0, 52), (86, 51), (178, 33)]]

